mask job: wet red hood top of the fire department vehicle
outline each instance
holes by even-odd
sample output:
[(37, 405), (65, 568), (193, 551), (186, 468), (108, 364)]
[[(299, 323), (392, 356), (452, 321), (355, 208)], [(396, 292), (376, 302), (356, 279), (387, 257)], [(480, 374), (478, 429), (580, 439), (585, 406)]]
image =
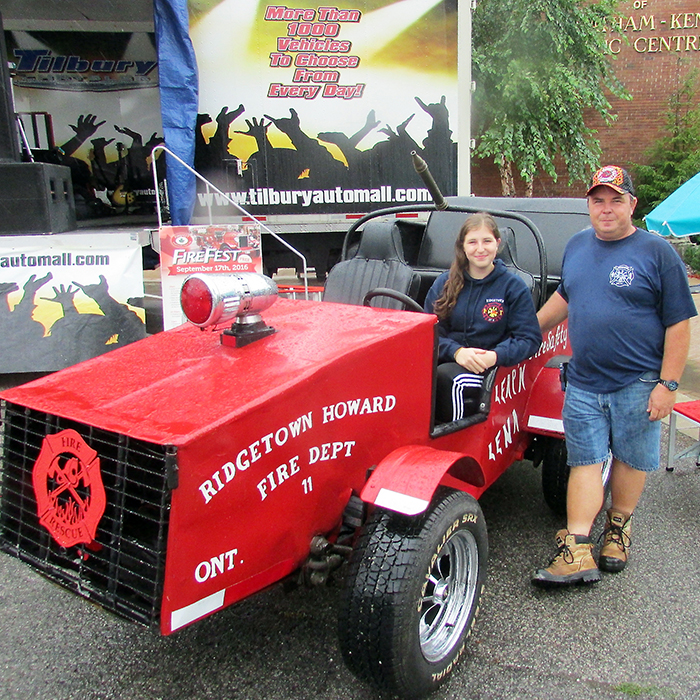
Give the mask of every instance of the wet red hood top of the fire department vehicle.
[(339, 357), (435, 323), (427, 314), (286, 299), (264, 319), (277, 333), (243, 348), (224, 347), (219, 332), (185, 325), (0, 397), (156, 444), (181, 445), (309, 381)]

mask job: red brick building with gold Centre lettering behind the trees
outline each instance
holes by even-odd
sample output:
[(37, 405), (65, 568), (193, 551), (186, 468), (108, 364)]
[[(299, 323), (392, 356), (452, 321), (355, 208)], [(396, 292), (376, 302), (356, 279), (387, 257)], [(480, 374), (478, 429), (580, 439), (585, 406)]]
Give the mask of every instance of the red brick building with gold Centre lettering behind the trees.
[[(645, 151), (664, 130), (670, 96), (692, 68), (700, 69), (700, 3), (698, 0), (625, 0), (616, 32), (607, 33), (615, 72), (632, 100), (611, 100), (617, 120), (606, 126), (593, 115), (603, 163), (628, 166), (644, 162)], [(700, 94), (696, 95), (700, 100)], [(518, 194), (524, 192), (518, 183)], [(486, 161), (472, 165), (472, 189), (478, 195), (499, 195), (496, 167)], [(553, 183), (535, 181), (535, 196), (580, 196), (582, 186), (567, 186), (566, 175)]]

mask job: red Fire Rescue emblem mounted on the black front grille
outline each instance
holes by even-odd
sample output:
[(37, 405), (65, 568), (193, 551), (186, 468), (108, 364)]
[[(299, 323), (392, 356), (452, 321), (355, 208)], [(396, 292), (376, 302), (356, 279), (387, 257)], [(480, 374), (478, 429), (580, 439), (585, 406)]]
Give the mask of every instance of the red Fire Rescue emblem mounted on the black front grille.
[(32, 482), (39, 522), (61, 547), (95, 539), (107, 502), (100, 460), (75, 430), (44, 438)]

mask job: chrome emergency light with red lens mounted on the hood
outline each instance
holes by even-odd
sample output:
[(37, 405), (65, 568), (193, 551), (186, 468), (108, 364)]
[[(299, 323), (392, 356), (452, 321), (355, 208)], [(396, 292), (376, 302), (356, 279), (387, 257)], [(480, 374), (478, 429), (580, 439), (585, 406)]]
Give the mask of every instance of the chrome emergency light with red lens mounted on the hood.
[(255, 272), (234, 275), (190, 275), (180, 290), (187, 320), (199, 328), (234, 321), (222, 333), (223, 345), (241, 347), (275, 332), (260, 316), (277, 299), (274, 280)]

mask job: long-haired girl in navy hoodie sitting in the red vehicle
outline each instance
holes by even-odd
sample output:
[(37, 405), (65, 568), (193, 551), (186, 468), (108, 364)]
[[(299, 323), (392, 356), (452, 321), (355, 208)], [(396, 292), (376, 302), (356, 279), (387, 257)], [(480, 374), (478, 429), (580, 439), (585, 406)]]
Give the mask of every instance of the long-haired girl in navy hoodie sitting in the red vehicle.
[(471, 215), (457, 236), (452, 266), (425, 298), (425, 310), (439, 319), (439, 423), (474, 413), (484, 372), (517, 365), (542, 342), (530, 290), (496, 258), (500, 241), (492, 216)]

